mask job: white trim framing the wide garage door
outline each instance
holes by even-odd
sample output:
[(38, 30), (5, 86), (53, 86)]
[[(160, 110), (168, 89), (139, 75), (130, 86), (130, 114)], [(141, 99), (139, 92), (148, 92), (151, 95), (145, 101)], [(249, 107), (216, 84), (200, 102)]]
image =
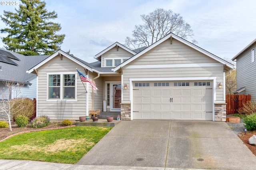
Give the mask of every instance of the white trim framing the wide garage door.
[(130, 78), (130, 101), (131, 101), (131, 120), (133, 120), (133, 81), (193, 81), (193, 80), (212, 80), (212, 120), (214, 121), (214, 101), (216, 101), (216, 79), (217, 77), (160, 77), (160, 78)]

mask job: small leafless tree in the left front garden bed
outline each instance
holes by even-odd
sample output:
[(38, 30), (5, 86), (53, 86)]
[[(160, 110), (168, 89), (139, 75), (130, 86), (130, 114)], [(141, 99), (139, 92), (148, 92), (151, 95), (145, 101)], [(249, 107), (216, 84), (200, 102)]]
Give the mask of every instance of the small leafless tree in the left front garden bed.
[[(3, 81), (5, 87), (3, 90), (7, 89), (5, 92), (2, 91), (2, 102), (0, 105), (0, 110), (2, 110), (8, 116), (9, 128), (12, 131), (11, 125), (11, 115), (12, 108), (20, 100), (17, 98), (20, 94), (20, 88), (24, 86), (23, 83), (16, 83), (14, 81)], [(14, 93), (14, 98), (11, 99), (12, 93)]]

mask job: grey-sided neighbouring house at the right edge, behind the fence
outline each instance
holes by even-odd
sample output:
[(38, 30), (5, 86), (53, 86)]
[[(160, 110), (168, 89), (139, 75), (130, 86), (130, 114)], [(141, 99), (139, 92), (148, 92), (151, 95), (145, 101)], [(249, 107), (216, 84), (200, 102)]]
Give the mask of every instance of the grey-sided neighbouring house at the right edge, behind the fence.
[(232, 60), (236, 60), (236, 87), (235, 94), (251, 95), (256, 100), (256, 39), (240, 51)]

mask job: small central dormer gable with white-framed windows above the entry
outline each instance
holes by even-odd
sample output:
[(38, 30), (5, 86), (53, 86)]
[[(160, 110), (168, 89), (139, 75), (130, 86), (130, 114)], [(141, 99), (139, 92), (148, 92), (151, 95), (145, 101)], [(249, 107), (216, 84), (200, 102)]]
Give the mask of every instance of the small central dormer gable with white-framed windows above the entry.
[(116, 67), (135, 54), (137, 53), (116, 42), (95, 55), (94, 58), (101, 62), (101, 67)]

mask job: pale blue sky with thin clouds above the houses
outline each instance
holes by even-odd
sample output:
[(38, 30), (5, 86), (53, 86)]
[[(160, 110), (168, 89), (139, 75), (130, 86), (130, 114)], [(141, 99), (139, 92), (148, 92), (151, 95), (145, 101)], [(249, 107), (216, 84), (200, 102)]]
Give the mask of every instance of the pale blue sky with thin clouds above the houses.
[[(125, 43), (134, 26), (143, 24), (140, 15), (156, 8), (172, 10), (190, 24), (199, 47), (222, 58), (232, 59), (256, 38), (255, 0), (44, 0), (54, 22), (65, 34), (63, 51), (89, 63), (94, 56), (115, 42)], [(14, 12), (18, 5), (0, 5)], [(17, 1), (20, 2), (19, 0)], [(0, 20), (0, 28), (7, 26)], [(5, 37), (7, 34), (0, 34)], [(4, 47), (0, 40), (0, 47)]]

